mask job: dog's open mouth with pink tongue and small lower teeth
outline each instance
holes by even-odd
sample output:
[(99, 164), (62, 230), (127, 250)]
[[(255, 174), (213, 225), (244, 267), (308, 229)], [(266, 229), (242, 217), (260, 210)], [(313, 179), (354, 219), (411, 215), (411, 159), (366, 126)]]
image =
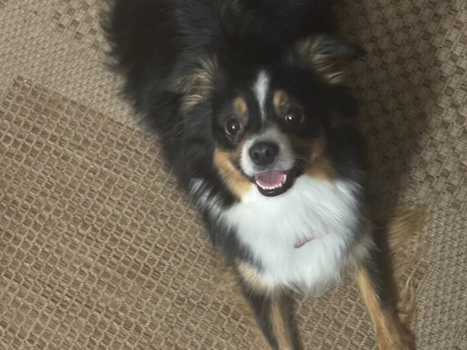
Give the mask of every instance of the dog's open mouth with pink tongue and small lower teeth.
[(293, 172), (290, 170), (271, 170), (254, 175), (258, 191), (268, 197), (286, 192), (293, 184)]

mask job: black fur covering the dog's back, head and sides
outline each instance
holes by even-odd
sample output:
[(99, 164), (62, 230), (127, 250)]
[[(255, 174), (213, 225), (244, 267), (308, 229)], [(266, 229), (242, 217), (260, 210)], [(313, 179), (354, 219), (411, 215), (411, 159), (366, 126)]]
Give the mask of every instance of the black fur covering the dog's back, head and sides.
[[(192, 192), (212, 243), (230, 261), (261, 268), (235, 229), (218, 220), (216, 210), (237, 198), (221, 179), (213, 154), (216, 145), (237, 146), (239, 140), (227, 138), (223, 129), (226, 101), (240, 94), (255, 109), (247, 91), (259, 69), (267, 69), (271, 86), (286, 89), (310, 116), (298, 136), (313, 140), (323, 128), (336, 175), (363, 189), (363, 217), (367, 165), (364, 140), (354, 127), (357, 103), (296, 51), (299, 40), (313, 35), (326, 54), (353, 59), (362, 53), (335, 39), (330, 0), (112, 0), (110, 6), (103, 26), (114, 69), (125, 77), (125, 95), (161, 136), (173, 173)], [(247, 127), (254, 132), (260, 126), (252, 118)], [(194, 179), (205, 187), (193, 190)], [(242, 289), (276, 349), (267, 323), (270, 300), (243, 284)]]

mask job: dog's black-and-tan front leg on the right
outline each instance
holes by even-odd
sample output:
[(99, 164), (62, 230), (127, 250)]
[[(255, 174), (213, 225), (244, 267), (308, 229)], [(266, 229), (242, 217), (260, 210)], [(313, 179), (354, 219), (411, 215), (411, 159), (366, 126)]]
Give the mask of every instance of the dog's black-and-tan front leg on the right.
[(356, 268), (356, 278), (377, 335), (380, 350), (413, 350), (413, 336), (397, 315), (392, 283), (385, 279), (375, 248)]

